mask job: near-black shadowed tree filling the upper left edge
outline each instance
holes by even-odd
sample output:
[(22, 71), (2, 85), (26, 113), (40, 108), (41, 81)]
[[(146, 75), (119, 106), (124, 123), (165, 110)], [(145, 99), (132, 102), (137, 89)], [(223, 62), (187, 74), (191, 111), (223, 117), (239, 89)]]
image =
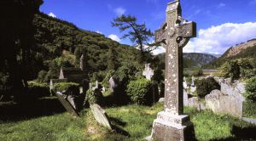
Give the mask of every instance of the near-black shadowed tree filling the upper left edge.
[(32, 20), (42, 3), (43, 0), (3, 0), (0, 4), (0, 71), (8, 72), (15, 95), (28, 86), (26, 81), (33, 71)]

